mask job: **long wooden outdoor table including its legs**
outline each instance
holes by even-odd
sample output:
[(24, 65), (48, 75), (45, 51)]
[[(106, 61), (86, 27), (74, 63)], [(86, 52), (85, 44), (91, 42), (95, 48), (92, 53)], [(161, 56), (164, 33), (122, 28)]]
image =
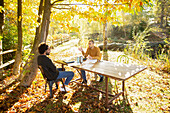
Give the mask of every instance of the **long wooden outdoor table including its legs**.
[[(110, 61), (97, 61), (97, 60), (87, 60), (83, 63), (76, 63), (71, 62), (67, 63), (65, 61), (55, 61), (56, 63), (64, 65), (68, 65), (73, 67), (77, 70), (85, 70), (88, 72), (92, 72), (95, 74), (100, 74), (105, 76), (105, 95), (106, 95), (106, 108), (108, 108), (108, 104), (111, 103), (114, 99), (119, 97), (121, 94), (124, 96), (125, 91), (125, 81), (132, 76), (140, 73), (141, 71), (145, 70), (147, 67), (142, 65), (135, 65), (135, 64), (124, 64), (119, 62), (110, 62)], [(81, 73), (80, 73), (81, 74)], [(108, 100), (108, 78), (112, 78), (115, 80), (122, 81), (122, 91), (116, 95), (111, 100)]]

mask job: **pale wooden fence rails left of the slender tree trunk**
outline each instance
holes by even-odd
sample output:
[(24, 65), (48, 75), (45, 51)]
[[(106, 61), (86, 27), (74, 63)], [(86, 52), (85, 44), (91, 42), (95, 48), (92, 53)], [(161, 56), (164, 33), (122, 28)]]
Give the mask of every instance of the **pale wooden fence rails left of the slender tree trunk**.
[[(4, 54), (7, 54), (7, 53), (15, 52), (15, 51), (16, 51), (16, 49), (7, 50), (7, 51), (4, 51), (4, 52), (1, 52), (1, 53), (0, 53), (0, 56), (1, 56), (1, 55), (4, 55)], [(12, 59), (12, 60), (4, 63), (4, 64), (1, 64), (1, 65), (0, 65), (0, 69), (3, 69), (4, 67), (6, 67), (6, 66), (8, 66), (8, 65), (10, 65), (10, 64), (12, 64), (12, 63), (14, 63), (14, 62), (15, 62), (15, 59)]]

